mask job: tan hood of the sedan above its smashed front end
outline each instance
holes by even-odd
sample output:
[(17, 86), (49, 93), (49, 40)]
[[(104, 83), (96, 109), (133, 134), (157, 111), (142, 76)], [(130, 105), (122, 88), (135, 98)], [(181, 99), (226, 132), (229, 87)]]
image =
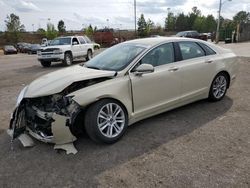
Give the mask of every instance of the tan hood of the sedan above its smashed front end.
[(112, 77), (115, 71), (104, 71), (86, 68), (84, 66), (72, 66), (44, 75), (28, 85), (25, 98), (48, 96), (61, 92), (76, 81), (93, 78)]

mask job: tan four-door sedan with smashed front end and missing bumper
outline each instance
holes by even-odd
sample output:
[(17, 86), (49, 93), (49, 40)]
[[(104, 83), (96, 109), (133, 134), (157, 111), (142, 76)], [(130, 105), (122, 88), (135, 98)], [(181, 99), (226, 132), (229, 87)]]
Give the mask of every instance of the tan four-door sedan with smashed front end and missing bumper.
[(82, 130), (114, 143), (139, 120), (200, 99), (221, 100), (237, 69), (234, 53), (201, 40), (124, 42), (26, 86), (8, 132), (24, 145), (31, 135), (69, 153), (76, 153), (72, 143)]

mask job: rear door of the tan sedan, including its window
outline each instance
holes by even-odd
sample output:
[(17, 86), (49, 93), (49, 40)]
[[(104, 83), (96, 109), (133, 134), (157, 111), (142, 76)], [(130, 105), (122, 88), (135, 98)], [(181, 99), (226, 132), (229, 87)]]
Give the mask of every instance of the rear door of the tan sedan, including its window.
[(216, 69), (213, 56), (208, 56), (199, 43), (182, 41), (177, 44), (182, 56), (182, 61), (177, 63), (182, 79), (182, 98), (188, 100), (204, 95), (209, 91)]

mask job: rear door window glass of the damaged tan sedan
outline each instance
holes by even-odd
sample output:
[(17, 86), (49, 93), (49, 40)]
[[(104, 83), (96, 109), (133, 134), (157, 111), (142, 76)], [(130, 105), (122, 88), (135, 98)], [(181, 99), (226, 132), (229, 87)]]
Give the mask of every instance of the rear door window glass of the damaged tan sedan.
[(192, 59), (205, 56), (204, 50), (195, 42), (179, 42), (182, 59)]

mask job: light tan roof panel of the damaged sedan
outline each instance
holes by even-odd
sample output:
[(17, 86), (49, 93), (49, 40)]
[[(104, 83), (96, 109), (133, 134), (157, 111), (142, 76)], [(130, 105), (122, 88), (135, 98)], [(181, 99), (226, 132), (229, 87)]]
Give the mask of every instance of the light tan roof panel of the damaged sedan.
[(135, 40), (127, 41), (125, 43), (136, 44), (136, 45), (141, 45), (141, 46), (150, 48), (152, 46), (159, 45), (161, 43), (178, 42), (178, 41), (202, 42), (201, 40), (183, 38), (183, 37), (151, 37), (151, 38), (135, 39)]

